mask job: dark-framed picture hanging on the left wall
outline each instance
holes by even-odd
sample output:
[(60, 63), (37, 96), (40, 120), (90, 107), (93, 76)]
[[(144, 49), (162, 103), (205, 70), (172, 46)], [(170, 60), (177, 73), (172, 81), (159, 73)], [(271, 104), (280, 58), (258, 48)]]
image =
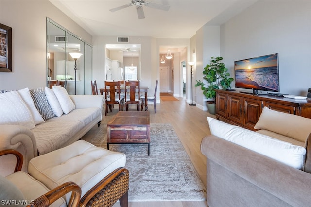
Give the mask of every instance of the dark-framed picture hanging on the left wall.
[(12, 72), (12, 28), (0, 24), (0, 72)]

